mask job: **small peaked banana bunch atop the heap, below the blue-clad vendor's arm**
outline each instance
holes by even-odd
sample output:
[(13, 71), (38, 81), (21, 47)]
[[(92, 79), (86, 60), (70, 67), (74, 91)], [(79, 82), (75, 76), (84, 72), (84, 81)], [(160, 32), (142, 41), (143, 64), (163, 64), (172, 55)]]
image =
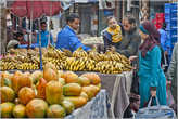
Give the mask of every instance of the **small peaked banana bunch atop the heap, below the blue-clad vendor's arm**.
[(73, 57), (87, 57), (88, 54), (82, 48), (78, 48), (76, 51), (73, 52)]

